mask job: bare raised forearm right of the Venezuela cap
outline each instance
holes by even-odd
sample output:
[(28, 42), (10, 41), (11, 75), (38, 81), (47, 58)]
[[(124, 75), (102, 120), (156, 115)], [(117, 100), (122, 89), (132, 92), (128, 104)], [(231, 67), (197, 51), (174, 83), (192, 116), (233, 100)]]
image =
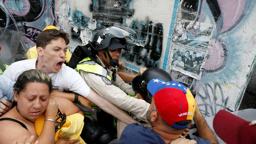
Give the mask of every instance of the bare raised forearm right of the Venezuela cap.
[(200, 138), (209, 140), (212, 144), (218, 144), (214, 134), (210, 130), (208, 124), (204, 120), (203, 115), (201, 114), (198, 104), (196, 102), (196, 110), (194, 115), (194, 122), (196, 124), (196, 129)]

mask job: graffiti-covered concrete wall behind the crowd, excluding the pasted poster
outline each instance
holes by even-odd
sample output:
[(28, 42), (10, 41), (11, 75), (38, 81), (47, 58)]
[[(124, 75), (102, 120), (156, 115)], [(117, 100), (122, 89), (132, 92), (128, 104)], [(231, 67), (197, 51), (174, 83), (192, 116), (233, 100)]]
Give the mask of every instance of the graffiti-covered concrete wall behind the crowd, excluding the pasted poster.
[[(98, 29), (113, 24), (138, 33), (141, 45), (122, 52), (131, 70), (157, 66), (196, 92), (204, 116), (220, 109), (238, 110), (255, 63), (255, 0), (5, 0), (0, 1), (0, 26), (22, 22), (29, 47), (45, 26), (70, 34), (69, 48), (87, 44)], [(176, 20), (216, 26), (201, 80), (170, 70), (172, 32)]]

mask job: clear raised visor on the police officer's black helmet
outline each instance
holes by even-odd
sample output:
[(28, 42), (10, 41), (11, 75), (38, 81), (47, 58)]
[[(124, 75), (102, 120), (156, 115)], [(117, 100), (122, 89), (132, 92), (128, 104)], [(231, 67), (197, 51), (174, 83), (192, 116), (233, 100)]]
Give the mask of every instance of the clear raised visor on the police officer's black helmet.
[(110, 26), (104, 30), (103, 35), (112, 34), (117, 38), (125, 38), (126, 42), (129, 44), (137, 43), (137, 33), (134, 30), (126, 26)]

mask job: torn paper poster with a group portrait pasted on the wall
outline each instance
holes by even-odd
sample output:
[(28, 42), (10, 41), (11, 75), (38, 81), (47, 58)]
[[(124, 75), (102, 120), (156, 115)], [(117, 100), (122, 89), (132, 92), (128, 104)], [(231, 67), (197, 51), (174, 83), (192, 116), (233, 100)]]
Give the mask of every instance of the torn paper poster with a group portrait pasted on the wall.
[(171, 70), (200, 80), (214, 25), (191, 20), (174, 28), (171, 44)]

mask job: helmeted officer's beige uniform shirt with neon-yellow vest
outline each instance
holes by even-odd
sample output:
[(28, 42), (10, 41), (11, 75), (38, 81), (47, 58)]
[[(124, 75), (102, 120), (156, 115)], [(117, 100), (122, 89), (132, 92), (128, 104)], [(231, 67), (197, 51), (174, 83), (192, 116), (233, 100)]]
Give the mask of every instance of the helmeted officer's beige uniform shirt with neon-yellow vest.
[(135, 92), (132, 90), (132, 86), (126, 84), (118, 74), (113, 84), (112, 71), (106, 68), (99, 58), (98, 62), (101, 66), (87, 57), (77, 65), (77, 70), (86, 83), (109, 102), (123, 110), (133, 112), (137, 118), (147, 122), (146, 114), (150, 104), (128, 96), (126, 93), (134, 94)]

